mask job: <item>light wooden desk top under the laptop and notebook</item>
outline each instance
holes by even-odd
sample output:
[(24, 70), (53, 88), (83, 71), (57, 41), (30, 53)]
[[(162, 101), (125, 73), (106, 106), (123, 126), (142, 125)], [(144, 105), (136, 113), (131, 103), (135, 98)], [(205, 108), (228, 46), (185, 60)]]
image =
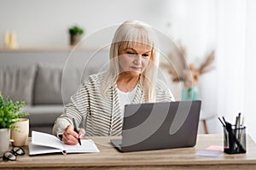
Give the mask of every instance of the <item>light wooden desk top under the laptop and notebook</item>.
[(256, 144), (247, 136), (247, 153), (195, 156), (210, 145), (223, 145), (221, 134), (199, 134), (193, 148), (120, 153), (109, 143), (116, 137), (93, 137), (100, 153), (18, 156), (0, 161), (0, 169), (256, 169)]

